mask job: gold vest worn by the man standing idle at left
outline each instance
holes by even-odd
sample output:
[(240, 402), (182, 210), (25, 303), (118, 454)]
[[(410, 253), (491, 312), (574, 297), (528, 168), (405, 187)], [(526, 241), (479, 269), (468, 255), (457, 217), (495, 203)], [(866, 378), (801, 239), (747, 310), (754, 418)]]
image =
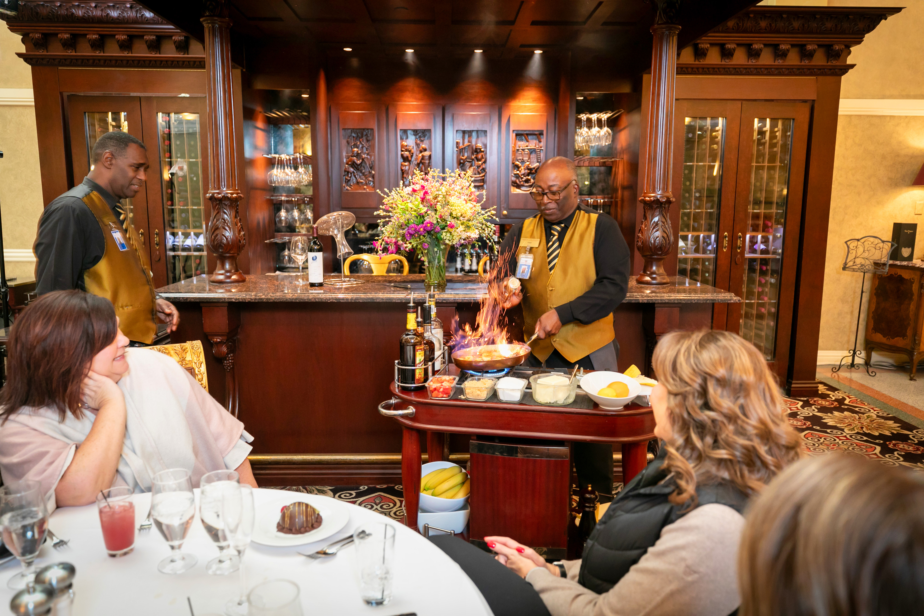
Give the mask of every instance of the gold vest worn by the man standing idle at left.
[[(122, 224), (116, 220), (112, 210), (99, 193), (91, 191), (83, 198), (96, 222), (103, 229), (103, 259), (83, 272), (83, 284), (87, 293), (105, 297), (116, 308), (119, 329), (130, 340), (151, 344), (157, 333), (157, 312), (154, 305), (154, 285), (148, 260), (140, 251), (140, 238), (135, 227), (128, 226), (128, 237), (122, 233)], [(119, 232), (127, 249), (116, 243), (113, 230)]]

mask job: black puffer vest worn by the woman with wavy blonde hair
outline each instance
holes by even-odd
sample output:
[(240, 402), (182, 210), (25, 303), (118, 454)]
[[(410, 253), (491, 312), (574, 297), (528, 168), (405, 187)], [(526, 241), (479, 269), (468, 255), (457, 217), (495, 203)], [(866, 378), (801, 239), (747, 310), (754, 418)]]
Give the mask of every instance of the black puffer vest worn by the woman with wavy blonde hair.
[[(676, 522), (687, 504), (673, 505), (667, 497), (674, 492), (674, 479), (662, 470), (666, 449), (661, 448), (648, 466), (632, 479), (590, 533), (584, 548), (577, 581), (595, 593), (605, 593), (622, 579), (629, 567), (661, 537), (664, 526)], [(742, 513), (748, 497), (739, 489), (721, 483), (697, 486), (699, 505), (717, 502)]]

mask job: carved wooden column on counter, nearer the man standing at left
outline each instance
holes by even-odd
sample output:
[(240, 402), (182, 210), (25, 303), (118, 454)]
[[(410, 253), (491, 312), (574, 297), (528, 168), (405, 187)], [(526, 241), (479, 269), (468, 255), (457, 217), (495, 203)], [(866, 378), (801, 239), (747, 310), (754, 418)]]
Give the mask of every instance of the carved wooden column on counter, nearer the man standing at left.
[(208, 247), (215, 256), (213, 283), (240, 283), (237, 255), (247, 246), (238, 206), (243, 195), (237, 189), (237, 134), (234, 114), (234, 83), (231, 76), (231, 19), (227, 0), (205, 3), (205, 75), (209, 116), (209, 191), (212, 218)]

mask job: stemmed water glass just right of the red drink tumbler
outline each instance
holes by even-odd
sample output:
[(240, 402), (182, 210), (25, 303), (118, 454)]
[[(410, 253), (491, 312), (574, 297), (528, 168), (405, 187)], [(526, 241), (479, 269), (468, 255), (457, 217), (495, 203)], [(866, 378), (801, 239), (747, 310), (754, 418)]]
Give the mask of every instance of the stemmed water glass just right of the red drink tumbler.
[(170, 546), (170, 556), (157, 564), (162, 574), (182, 574), (199, 562), (192, 554), (180, 552), (196, 516), (192, 477), (185, 468), (168, 468), (151, 480), (151, 516), (157, 530)]

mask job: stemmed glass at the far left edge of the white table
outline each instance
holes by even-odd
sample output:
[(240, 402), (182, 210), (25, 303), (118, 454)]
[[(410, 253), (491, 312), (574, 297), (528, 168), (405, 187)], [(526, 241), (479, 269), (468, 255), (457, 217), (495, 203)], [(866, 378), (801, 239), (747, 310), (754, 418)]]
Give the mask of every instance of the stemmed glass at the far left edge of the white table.
[(14, 481), (0, 488), (0, 532), (3, 542), (22, 563), (22, 571), (6, 582), (7, 588), (25, 588), (35, 577), (39, 555), (48, 530), (48, 509), (38, 481)]

